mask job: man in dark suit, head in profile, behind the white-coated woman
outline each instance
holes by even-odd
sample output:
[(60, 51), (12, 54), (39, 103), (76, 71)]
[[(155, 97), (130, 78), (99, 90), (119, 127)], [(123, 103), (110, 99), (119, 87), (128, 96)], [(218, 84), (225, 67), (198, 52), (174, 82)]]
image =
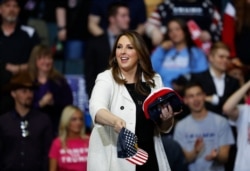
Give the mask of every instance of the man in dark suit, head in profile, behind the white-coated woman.
[(87, 43), (85, 58), (85, 79), (88, 96), (91, 95), (96, 76), (108, 67), (109, 55), (116, 36), (129, 29), (129, 8), (122, 2), (116, 2), (108, 9), (109, 26), (104, 34), (90, 39)]

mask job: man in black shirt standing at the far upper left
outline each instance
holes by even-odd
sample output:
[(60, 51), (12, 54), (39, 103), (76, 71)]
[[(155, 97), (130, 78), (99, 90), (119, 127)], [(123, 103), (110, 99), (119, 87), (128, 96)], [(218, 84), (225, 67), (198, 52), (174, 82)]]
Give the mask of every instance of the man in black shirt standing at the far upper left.
[[(34, 28), (19, 23), (20, 0), (0, 0), (0, 87), (25, 70), (30, 51), (39, 43)], [(0, 96), (0, 114), (13, 108), (9, 93)]]

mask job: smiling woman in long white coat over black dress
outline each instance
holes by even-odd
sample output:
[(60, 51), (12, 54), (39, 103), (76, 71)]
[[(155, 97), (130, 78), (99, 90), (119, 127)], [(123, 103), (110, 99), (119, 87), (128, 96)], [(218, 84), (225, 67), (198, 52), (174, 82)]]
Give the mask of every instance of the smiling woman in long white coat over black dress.
[[(135, 31), (119, 35), (109, 64), (110, 69), (98, 74), (89, 101), (94, 128), (90, 136), (88, 170), (169, 171), (162, 141), (155, 136), (155, 131), (169, 131), (174, 114), (179, 112), (174, 112), (170, 105), (161, 107), (158, 127), (145, 117), (144, 100), (163, 84), (153, 71), (143, 38)], [(118, 158), (118, 133), (124, 127), (137, 136), (138, 147), (148, 153), (144, 165)]]

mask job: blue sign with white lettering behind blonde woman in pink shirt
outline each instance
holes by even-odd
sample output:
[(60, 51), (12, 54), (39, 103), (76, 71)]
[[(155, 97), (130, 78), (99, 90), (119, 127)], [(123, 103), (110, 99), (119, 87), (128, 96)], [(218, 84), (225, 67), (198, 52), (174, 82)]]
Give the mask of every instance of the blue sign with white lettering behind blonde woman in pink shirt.
[(92, 127), (92, 120), (89, 114), (89, 97), (86, 93), (85, 79), (83, 75), (65, 75), (73, 94), (73, 104), (78, 106), (85, 116), (85, 125)]

